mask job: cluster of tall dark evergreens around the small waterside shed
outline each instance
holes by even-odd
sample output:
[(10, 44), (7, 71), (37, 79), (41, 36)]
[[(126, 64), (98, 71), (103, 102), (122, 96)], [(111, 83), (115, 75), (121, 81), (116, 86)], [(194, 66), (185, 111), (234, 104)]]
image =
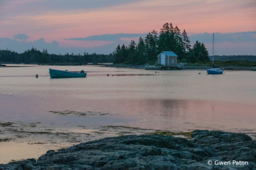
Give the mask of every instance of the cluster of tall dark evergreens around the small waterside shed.
[(162, 51), (176, 53), (178, 62), (182, 63), (207, 63), (210, 61), (209, 53), (204, 43), (196, 41), (191, 47), (187, 32), (180, 32), (172, 23), (163, 24), (158, 34), (155, 30), (149, 32), (146, 37), (139, 38), (138, 44), (131, 40), (129, 46), (118, 44), (115, 49), (114, 64), (155, 64), (156, 56)]

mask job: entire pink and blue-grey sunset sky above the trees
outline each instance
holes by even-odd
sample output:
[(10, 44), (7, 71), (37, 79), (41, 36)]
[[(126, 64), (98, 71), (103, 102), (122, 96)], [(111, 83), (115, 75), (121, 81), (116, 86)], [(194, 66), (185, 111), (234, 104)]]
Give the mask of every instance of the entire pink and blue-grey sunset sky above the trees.
[(0, 49), (104, 53), (172, 23), (216, 55), (256, 55), (255, 0), (0, 0)]

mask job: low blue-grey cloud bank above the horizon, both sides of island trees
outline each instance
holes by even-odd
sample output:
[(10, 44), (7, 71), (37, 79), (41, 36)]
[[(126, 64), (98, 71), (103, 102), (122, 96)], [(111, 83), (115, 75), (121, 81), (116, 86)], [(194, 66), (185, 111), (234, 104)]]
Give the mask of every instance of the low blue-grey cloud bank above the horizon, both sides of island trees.
[[(216, 47), (218, 49), (218, 55), (256, 55), (256, 38), (255, 32), (237, 32), (229, 34), (216, 33), (214, 38), (216, 39)], [(97, 36), (88, 36), (87, 38), (77, 38), (75, 40), (102, 40), (112, 41), (113, 43), (108, 45), (102, 45), (100, 47), (94, 46), (93, 48), (75, 48), (75, 47), (60, 47), (58, 42), (53, 41), (52, 43), (46, 43), (44, 39), (39, 39), (34, 42), (25, 42), (16, 39), (0, 38), (0, 49), (11, 49), (16, 52), (24, 52), (32, 47), (43, 51), (46, 49), (49, 53), (65, 54), (65, 53), (104, 53), (109, 54), (115, 50), (118, 44), (129, 45), (130, 41), (120, 40), (121, 38), (134, 38), (135, 42), (138, 43), (138, 37), (146, 36), (146, 34), (105, 34)], [(201, 43), (205, 43), (208, 51), (212, 50), (212, 34), (205, 32), (204, 34), (197, 34), (189, 36), (191, 44), (199, 40)], [(71, 40), (71, 39), (69, 39)], [(226, 42), (226, 43), (224, 43)]]

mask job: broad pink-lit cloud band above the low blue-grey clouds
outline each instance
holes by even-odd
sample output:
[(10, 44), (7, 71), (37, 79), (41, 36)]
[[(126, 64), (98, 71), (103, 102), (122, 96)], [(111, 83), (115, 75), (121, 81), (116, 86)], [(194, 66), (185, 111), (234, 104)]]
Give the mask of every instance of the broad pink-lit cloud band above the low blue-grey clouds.
[[(166, 22), (177, 25), (181, 31), (185, 29), (195, 34), (245, 32), (255, 31), (256, 28), (256, 2), (253, 0), (234, 0), (232, 3), (227, 0), (148, 0), (92, 10), (65, 9), (42, 12), (36, 7), (38, 13), (30, 12), (32, 3), (42, 1), (45, 0), (3, 3), (4, 6), (0, 8), (5, 12), (0, 12), (0, 15), (4, 14), (4, 17), (0, 16), (0, 37), (13, 38), (13, 35), (22, 33), (30, 36), (28, 40), (44, 38), (46, 42), (56, 40), (65, 47), (90, 47), (88, 43), (67, 43), (63, 39), (121, 32), (147, 33), (153, 29), (159, 32)], [(20, 4), (24, 3), (28, 10), (20, 9), (23, 7)], [(102, 45), (102, 42), (92, 44)]]

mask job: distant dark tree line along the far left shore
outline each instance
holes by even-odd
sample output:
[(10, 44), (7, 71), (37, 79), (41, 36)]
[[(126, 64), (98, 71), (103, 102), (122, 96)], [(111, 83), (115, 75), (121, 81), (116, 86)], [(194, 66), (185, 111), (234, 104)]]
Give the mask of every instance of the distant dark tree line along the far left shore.
[(43, 52), (32, 47), (23, 53), (18, 53), (11, 50), (0, 49), (0, 62), (5, 63), (113, 63), (114, 55), (103, 54), (84, 54), (74, 55), (73, 53), (66, 53), (65, 55), (49, 54), (47, 49), (43, 49)]

